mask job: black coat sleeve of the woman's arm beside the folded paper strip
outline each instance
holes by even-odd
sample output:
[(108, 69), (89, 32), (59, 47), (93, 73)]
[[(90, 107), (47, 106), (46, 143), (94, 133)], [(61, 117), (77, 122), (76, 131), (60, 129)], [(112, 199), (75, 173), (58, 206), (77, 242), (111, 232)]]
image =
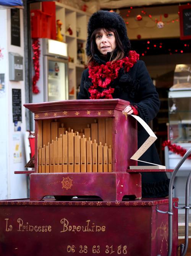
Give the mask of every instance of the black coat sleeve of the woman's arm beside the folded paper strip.
[(148, 123), (159, 112), (160, 101), (159, 94), (143, 61), (138, 62), (136, 79), (139, 80), (139, 89), (138, 101), (134, 102), (134, 106), (138, 110), (139, 116)]

